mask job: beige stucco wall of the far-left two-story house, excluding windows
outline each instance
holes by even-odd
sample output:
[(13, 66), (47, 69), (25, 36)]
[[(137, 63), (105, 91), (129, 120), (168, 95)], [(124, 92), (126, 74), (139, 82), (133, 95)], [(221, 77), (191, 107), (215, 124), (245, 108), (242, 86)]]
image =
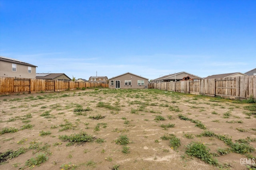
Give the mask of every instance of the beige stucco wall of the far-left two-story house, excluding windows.
[(12, 63), (0, 61), (0, 77), (36, 79), (36, 67), (31, 67), (31, 73), (28, 73), (27, 65), (16, 64), (16, 71), (12, 71)]

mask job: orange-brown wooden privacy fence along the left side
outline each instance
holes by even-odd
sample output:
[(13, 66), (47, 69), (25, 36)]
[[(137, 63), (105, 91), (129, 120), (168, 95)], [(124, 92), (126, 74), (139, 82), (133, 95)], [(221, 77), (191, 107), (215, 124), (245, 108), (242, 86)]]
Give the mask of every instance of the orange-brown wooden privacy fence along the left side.
[(105, 83), (91, 83), (78, 81), (22, 79), (14, 77), (0, 77), (0, 95), (12, 93), (36, 93), (39, 91), (64, 91), (82, 87), (108, 87)]

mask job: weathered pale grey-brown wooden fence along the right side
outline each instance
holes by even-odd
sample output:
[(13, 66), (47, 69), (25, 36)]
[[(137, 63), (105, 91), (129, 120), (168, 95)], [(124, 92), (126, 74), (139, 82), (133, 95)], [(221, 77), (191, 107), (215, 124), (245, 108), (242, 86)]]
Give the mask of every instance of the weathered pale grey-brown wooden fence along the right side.
[(256, 99), (256, 76), (150, 83), (150, 88), (210, 96)]

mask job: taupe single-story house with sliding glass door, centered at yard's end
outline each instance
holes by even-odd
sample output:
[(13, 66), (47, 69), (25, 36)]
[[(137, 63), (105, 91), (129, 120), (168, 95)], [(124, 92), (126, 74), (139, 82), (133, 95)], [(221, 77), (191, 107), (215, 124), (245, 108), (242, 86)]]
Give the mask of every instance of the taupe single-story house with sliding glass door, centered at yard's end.
[(110, 89), (147, 89), (148, 79), (133, 73), (124, 73), (108, 79)]

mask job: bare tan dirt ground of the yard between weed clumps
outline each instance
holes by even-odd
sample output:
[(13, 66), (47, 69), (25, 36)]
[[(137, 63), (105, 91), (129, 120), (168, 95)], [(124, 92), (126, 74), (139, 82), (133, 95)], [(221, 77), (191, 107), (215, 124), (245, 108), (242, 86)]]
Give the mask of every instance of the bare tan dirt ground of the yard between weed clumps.
[[(112, 107), (98, 107), (99, 102), (108, 103)], [(244, 107), (248, 105), (252, 104), (154, 89), (86, 89), (2, 96), (0, 131), (10, 127), (18, 131), (0, 134), (0, 153), (19, 148), (26, 148), (26, 152), (2, 162), (0, 169), (109, 170), (118, 167), (119, 170), (245, 170), (248, 168), (241, 164), (240, 159), (248, 158), (246, 154), (233, 152), (220, 155), (218, 148), (228, 148), (222, 140), (196, 136), (204, 132), (204, 129), (196, 127), (191, 121), (179, 119), (178, 114), (199, 120), (206, 130), (228, 135), (232, 142), (236, 142), (238, 139), (256, 138), (256, 117), (246, 115), (249, 111)], [(79, 115), (75, 109), (81, 107), (91, 110), (79, 112)], [(225, 113), (230, 113), (230, 116), (224, 118)], [(99, 114), (102, 119), (90, 118)], [(154, 120), (157, 115), (166, 120)], [(160, 127), (169, 123), (175, 126), (166, 129)], [(27, 124), (32, 127), (22, 130)], [(67, 129), (63, 130), (64, 127)], [(50, 131), (50, 134), (42, 135), (42, 131)], [(104, 139), (104, 142), (66, 146), (68, 142), (59, 138), (60, 135), (80, 132)], [(180, 139), (181, 145), (177, 150), (169, 146), (168, 140), (162, 140), (161, 137), (166, 134), (174, 134)], [(193, 138), (186, 138), (186, 134)], [(120, 135), (128, 137), (130, 153), (123, 153), (123, 146), (116, 144)], [(189, 157), (186, 146), (192, 141), (201, 142), (210, 148), (222, 167), (217, 168), (198, 158)], [(33, 144), (38, 144), (41, 149), (32, 148), (35, 146)], [(256, 141), (250, 142), (250, 146), (256, 148)], [(46, 154), (46, 162), (40, 166), (26, 165), (27, 160), (36, 158), (40, 153)], [(251, 152), (250, 156), (255, 158), (256, 151)]]

